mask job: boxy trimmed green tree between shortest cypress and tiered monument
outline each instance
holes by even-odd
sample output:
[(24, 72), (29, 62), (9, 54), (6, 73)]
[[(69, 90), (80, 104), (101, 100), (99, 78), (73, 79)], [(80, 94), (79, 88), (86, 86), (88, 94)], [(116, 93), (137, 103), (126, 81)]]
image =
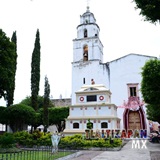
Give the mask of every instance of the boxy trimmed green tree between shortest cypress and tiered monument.
[(49, 108), (49, 124), (55, 124), (58, 132), (63, 131), (64, 121), (69, 116), (69, 107)]

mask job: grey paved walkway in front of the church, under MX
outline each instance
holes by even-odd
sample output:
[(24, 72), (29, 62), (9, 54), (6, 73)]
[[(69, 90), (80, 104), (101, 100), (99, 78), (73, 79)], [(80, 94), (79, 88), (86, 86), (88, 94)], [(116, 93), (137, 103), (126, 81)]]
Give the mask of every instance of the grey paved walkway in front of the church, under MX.
[(129, 141), (120, 151), (82, 151), (79, 157), (71, 160), (160, 160), (159, 143), (147, 141), (140, 146), (132, 147), (132, 141)]

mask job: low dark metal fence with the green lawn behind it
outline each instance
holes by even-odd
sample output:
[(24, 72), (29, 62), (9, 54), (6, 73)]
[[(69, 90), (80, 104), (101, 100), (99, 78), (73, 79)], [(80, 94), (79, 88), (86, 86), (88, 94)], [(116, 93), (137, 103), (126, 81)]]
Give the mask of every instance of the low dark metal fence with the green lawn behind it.
[(55, 160), (71, 153), (65, 150), (52, 153), (52, 147), (24, 148), (20, 152), (0, 153), (0, 160)]

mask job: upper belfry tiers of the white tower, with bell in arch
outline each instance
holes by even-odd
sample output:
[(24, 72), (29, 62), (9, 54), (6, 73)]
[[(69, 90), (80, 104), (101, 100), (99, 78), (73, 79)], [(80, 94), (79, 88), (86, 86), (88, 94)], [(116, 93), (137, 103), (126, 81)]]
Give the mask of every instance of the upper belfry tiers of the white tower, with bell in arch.
[(103, 62), (103, 45), (99, 39), (99, 31), (94, 14), (87, 7), (86, 12), (80, 16), (77, 38), (73, 40), (73, 62)]

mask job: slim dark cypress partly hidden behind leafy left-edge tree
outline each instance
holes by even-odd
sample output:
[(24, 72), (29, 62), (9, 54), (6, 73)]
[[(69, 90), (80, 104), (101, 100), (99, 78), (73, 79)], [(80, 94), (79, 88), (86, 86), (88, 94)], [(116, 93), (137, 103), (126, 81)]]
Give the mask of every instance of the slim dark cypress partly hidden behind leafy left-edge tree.
[(16, 31), (13, 32), (11, 41), (15, 44), (15, 55), (13, 57), (13, 63), (12, 63), (12, 69), (13, 69), (13, 77), (10, 80), (10, 83), (12, 84), (9, 91), (7, 92), (7, 106), (10, 106), (13, 104), (14, 101), (14, 90), (15, 90), (15, 76), (16, 76), (16, 70), (17, 70), (17, 36)]

